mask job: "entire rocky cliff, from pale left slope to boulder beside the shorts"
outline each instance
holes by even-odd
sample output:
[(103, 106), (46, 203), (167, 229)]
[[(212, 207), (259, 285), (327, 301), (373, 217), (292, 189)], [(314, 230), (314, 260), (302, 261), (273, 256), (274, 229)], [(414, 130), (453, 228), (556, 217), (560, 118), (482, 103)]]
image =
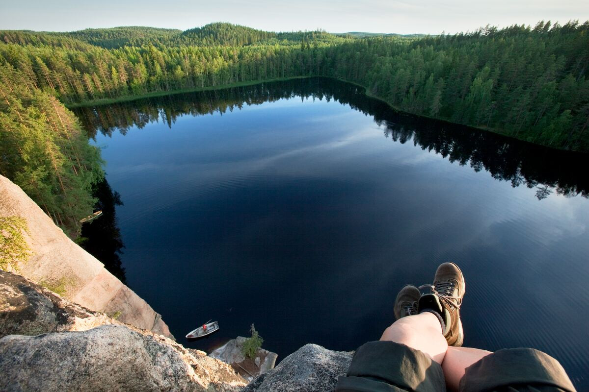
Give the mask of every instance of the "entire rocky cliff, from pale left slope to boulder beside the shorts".
[[(158, 313), (0, 176), (2, 216), (27, 222), (32, 254), (24, 276), (0, 270), (1, 391), (333, 391), (352, 359), (307, 344), (248, 384), (168, 339)], [(56, 283), (63, 296), (42, 287)]]

